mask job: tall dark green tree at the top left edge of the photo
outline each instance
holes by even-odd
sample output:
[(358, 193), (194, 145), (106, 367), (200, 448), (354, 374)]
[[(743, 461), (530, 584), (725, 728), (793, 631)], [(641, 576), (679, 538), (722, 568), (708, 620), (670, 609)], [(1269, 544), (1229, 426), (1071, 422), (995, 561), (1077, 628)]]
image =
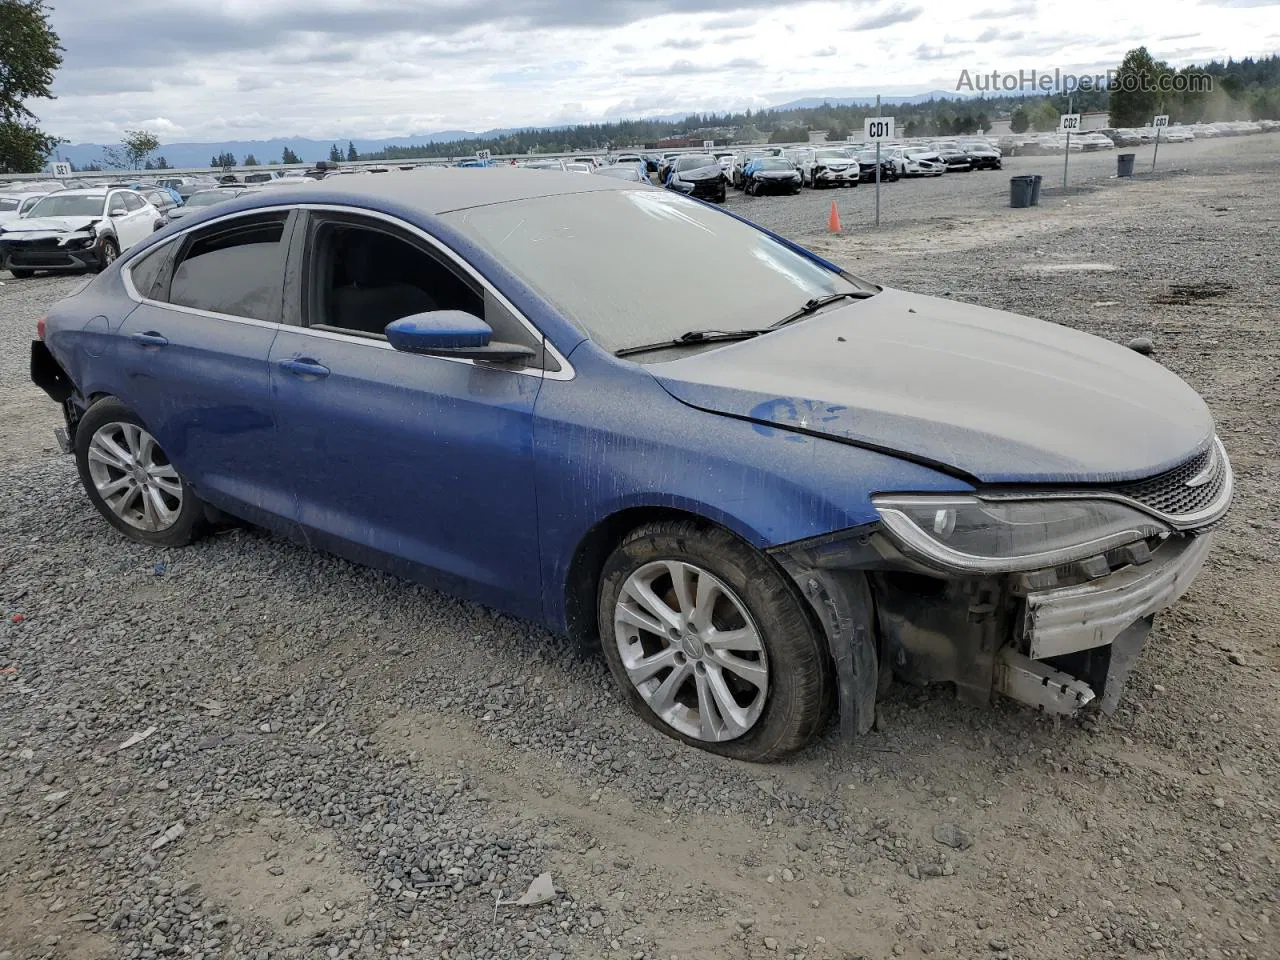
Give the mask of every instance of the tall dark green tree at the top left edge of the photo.
[(52, 99), (63, 47), (40, 0), (0, 0), (0, 173), (33, 173), (45, 165), (58, 137), (37, 125), (24, 104)]

